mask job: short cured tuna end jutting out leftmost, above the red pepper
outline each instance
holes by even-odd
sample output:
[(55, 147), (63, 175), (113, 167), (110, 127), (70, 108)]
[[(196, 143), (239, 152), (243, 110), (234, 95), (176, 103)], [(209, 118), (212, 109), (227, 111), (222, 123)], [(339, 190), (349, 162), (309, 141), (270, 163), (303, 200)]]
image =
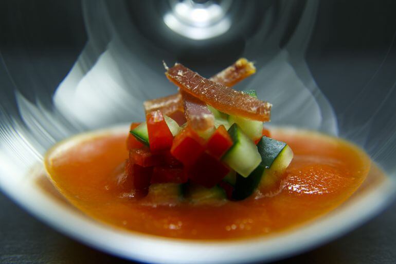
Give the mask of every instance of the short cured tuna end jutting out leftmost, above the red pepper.
[(177, 111), (183, 112), (182, 95), (179, 93), (145, 101), (143, 105), (145, 106), (146, 114), (157, 110), (160, 110), (164, 115), (171, 115)]

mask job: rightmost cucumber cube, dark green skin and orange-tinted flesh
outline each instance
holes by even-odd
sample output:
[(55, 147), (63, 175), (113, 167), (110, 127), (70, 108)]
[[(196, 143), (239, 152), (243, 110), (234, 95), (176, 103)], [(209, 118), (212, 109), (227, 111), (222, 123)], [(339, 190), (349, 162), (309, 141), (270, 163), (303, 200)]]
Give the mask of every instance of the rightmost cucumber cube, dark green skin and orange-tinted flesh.
[(265, 167), (260, 187), (274, 184), (293, 160), (293, 151), (284, 142), (263, 136), (257, 144)]

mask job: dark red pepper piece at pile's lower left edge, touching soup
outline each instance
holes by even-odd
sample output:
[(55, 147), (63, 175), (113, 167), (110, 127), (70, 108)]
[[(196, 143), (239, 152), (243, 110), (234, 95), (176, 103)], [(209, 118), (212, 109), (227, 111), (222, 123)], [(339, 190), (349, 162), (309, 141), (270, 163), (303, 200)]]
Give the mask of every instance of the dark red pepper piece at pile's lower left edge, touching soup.
[(132, 189), (137, 191), (140, 195), (145, 195), (150, 186), (151, 176), (153, 174), (153, 167), (142, 167), (133, 164), (130, 160), (125, 165), (125, 173), (127, 174), (127, 181), (131, 183)]

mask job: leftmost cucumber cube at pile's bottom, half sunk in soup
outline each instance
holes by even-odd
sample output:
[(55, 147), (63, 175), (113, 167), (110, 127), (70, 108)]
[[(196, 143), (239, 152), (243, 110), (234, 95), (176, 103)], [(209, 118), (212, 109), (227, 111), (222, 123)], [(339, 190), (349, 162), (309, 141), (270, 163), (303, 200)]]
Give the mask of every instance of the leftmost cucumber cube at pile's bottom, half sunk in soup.
[(182, 185), (178, 183), (151, 184), (146, 200), (154, 205), (174, 205), (183, 200)]

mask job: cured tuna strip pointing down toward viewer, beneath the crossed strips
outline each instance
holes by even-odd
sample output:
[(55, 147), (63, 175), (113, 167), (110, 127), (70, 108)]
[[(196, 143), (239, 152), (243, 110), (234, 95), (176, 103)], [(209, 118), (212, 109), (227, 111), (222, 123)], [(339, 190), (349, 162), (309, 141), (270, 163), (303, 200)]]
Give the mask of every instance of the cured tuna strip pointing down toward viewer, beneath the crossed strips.
[(196, 131), (205, 131), (214, 126), (214, 116), (206, 103), (200, 99), (180, 91), (184, 101), (184, 114), (188, 124)]

